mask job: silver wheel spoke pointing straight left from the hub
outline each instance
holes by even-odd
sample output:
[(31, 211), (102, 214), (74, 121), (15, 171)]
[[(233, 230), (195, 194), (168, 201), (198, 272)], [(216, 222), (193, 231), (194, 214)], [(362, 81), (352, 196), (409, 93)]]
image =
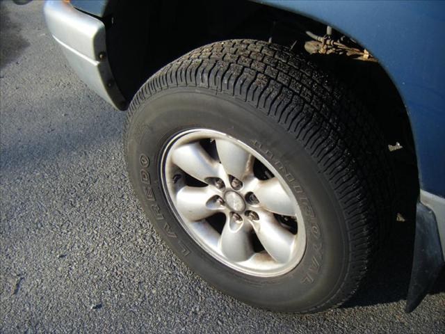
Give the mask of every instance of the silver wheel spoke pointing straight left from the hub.
[(202, 188), (195, 186), (184, 186), (176, 196), (176, 207), (191, 221), (200, 221), (215, 213), (215, 207), (207, 205), (209, 199), (214, 196), (209, 186)]

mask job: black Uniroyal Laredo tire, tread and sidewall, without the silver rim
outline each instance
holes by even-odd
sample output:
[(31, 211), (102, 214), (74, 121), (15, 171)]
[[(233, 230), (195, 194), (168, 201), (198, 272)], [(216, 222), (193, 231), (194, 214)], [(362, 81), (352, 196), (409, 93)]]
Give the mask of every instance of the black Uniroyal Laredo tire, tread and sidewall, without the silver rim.
[[(241, 272), (184, 229), (161, 166), (172, 138), (193, 129), (236, 138), (285, 180), (304, 221), (295, 267)], [(268, 310), (318, 312), (346, 301), (393, 215), (387, 147), (372, 117), (330, 74), (280, 45), (216, 42), (166, 65), (133, 98), (124, 149), (133, 190), (175, 254), (222, 292)]]

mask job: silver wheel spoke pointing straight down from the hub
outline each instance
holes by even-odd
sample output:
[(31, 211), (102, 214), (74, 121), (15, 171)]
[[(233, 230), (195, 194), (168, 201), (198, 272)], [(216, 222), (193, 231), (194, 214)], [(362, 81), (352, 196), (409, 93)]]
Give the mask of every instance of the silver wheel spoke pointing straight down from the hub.
[(240, 262), (248, 260), (253, 254), (249, 223), (238, 225), (232, 218), (227, 218), (221, 233), (219, 246), (223, 254), (232, 261)]

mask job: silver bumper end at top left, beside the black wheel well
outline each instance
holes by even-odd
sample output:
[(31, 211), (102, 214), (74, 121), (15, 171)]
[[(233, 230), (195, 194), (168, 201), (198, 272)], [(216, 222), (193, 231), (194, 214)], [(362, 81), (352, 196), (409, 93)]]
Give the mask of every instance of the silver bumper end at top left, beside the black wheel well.
[(44, 17), (68, 62), (88, 87), (117, 109), (125, 99), (116, 86), (106, 55), (105, 26), (99, 19), (81, 13), (65, 1), (44, 4)]

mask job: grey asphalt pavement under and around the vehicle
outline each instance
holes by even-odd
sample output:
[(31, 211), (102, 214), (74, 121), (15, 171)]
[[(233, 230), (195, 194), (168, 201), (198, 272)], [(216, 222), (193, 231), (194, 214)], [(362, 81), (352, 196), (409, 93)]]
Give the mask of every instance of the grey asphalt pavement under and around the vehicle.
[(89, 90), (42, 1), (0, 1), (0, 333), (444, 333), (445, 276), (405, 314), (414, 223), (398, 222), (353, 299), (268, 312), (213, 289), (163, 244), (133, 196), (124, 112)]

